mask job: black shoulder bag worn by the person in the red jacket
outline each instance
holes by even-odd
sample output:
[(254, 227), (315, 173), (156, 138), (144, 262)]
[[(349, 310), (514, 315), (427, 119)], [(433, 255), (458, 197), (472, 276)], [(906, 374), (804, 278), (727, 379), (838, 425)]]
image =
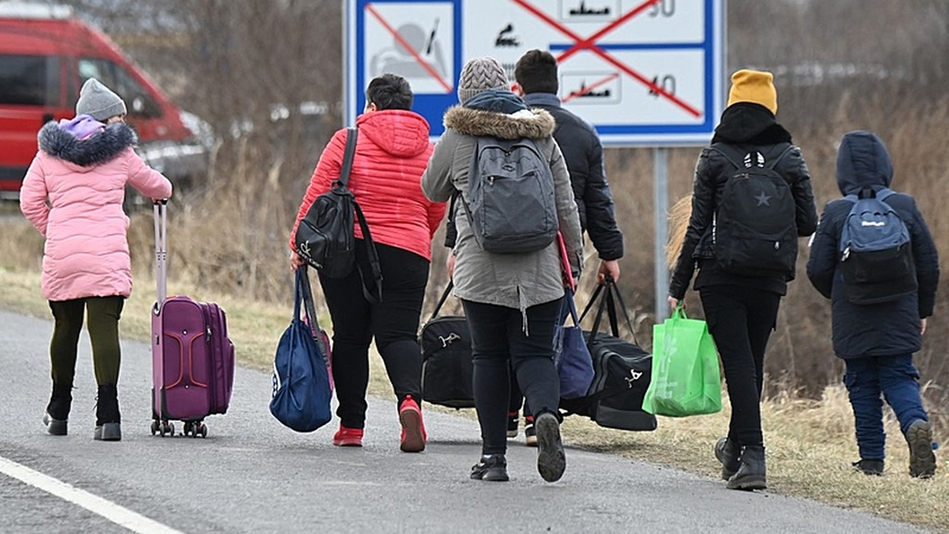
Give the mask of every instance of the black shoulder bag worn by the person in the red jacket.
[(369, 225), (365, 222), (363, 210), (356, 202), (353, 192), (346, 187), (352, 171), (353, 157), (356, 156), (356, 140), (359, 130), (346, 129), (346, 149), (339, 178), (333, 180), (333, 187), (313, 201), (307, 216), (297, 227), (294, 245), (297, 253), (311, 267), (330, 278), (344, 278), (358, 268), (356, 264), (356, 238), (353, 232), (353, 213), (363, 230), (363, 242), (372, 267), (373, 291), (370, 293), (364, 283), (363, 294), (370, 302), (382, 300), (382, 269), (376, 244), (372, 241)]

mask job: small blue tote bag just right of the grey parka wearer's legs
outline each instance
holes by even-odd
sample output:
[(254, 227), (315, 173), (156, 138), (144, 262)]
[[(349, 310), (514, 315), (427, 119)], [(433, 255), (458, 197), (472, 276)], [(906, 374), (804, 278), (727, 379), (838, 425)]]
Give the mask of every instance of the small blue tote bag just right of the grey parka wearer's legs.
[[(558, 326), (553, 341), (553, 360), (560, 376), (560, 397), (578, 398), (586, 396), (593, 382), (593, 359), (580, 329), (577, 317), (577, 305), (573, 302), (573, 291), (565, 291), (561, 304), (560, 317), (563, 322)], [(573, 319), (573, 326), (568, 320)]]

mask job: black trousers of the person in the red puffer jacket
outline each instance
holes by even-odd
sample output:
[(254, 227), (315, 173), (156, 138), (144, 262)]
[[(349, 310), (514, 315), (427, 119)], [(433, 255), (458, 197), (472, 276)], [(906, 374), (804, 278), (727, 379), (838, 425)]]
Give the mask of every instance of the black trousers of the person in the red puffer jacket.
[[(412, 396), (421, 403), (421, 351), (416, 336), (428, 283), (429, 262), (408, 250), (376, 245), (382, 267), (382, 302), (370, 304), (363, 296), (360, 270), (345, 278), (320, 275), (320, 285), (333, 321), (333, 380), (340, 407), (336, 414), (344, 427), (365, 425), (365, 390), (369, 385), (369, 343), (385, 362), (399, 403)], [(356, 260), (372, 284), (363, 241), (357, 240)]]

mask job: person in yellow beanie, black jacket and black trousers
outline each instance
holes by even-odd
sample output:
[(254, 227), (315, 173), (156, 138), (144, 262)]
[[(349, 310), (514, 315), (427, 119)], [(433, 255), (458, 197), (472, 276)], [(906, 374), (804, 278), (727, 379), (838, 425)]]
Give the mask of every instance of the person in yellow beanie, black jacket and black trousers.
[[(735, 72), (728, 104), (716, 127), (712, 146), (702, 150), (698, 157), (692, 212), (669, 285), (669, 304), (676, 307), (685, 298), (698, 267), (695, 288), (725, 369), (732, 403), (728, 435), (716, 443), (716, 457), (722, 464), (721, 474), (728, 480), (728, 488), (759, 489), (767, 486), (760, 410), (765, 349), (781, 297), (787, 293), (794, 272), (791, 267), (780, 274), (749, 276), (721, 267), (722, 258), (718, 256), (724, 257), (730, 248), (720, 243), (720, 249), (716, 248), (716, 216), (726, 184), (734, 179), (735, 173), (753, 166), (772, 166), (790, 190), (793, 220), (789, 216), (780, 221), (784, 225), (780, 229), (782, 236), (806, 237), (813, 233), (817, 228), (817, 209), (801, 150), (791, 144), (791, 134), (775, 119), (777, 91), (772, 74), (754, 70)], [(778, 206), (772, 196), (755, 200), (762, 210)], [(791, 214), (790, 210), (787, 214)], [(673, 226), (677, 226), (675, 221)], [(791, 266), (797, 255), (796, 242), (792, 254)]]

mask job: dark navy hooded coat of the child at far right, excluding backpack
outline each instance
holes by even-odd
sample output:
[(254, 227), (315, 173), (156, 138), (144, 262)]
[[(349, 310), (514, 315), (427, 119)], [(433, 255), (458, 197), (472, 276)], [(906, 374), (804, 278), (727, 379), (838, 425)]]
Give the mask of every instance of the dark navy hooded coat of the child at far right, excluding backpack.
[[(857, 194), (865, 188), (888, 188), (893, 164), (884, 143), (870, 132), (844, 136), (837, 153), (837, 186), (840, 192)], [(853, 203), (843, 198), (828, 202), (821, 224), (810, 246), (808, 278), (832, 302), (833, 348), (837, 356), (896, 356), (920, 350), (920, 320), (933, 314), (940, 266), (936, 245), (922, 219), (916, 201), (896, 193), (884, 202), (900, 215), (909, 230), (916, 262), (917, 293), (884, 304), (847, 302), (840, 269), (840, 235)]]

